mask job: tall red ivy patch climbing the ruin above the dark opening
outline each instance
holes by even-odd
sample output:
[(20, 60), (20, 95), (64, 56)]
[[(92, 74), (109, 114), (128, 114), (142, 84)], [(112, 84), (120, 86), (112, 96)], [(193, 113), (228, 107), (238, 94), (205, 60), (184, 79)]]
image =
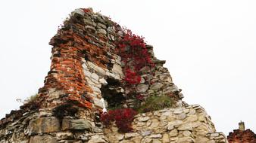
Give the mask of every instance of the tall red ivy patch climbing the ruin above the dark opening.
[(145, 65), (154, 66), (151, 61), (151, 55), (145, 47), (144, 38), (134, 35), (130, 30), (126, 30), (126, 34), (117, 46), (126, 65), (124, 81), (126, 81), (126, 84), (139, 84), (141, 81), (140, 75), (138, 75), (139, 70)]

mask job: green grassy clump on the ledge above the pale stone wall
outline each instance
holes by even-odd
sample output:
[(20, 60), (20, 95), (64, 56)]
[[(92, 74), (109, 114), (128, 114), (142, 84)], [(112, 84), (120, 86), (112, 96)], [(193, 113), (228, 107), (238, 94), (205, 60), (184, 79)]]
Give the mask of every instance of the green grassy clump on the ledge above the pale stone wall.
[(170, 108), (173, 105), (173, 99), (170, 96), (149, 96), (145, 99), (145, 104), (141, 105), (137, 111), (139, 113), (148, 111), (158, 111), (163, 108)]

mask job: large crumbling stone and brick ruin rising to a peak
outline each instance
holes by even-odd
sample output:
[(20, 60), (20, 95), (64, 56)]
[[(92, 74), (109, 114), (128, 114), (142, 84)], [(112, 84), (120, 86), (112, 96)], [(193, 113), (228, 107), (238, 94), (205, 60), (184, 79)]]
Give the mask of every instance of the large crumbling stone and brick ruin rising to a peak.
[[(117, 42), (125, 33), (117, 23), (90, 8), (73, 11), (49, 43), (52, 65), (44, 87), (35, 100), (0, 121), (0, 142), (227, 142), (222, 132), (216, 132), (204, 108), (182, 101), (181, 90), (163, 66), (165, 61), (154, 56), (151, 45), (145, 48), (154, 68), (145, 64), (139, 68), (139, 84), (124, 84), (127, 65)], [(128, 96), (131, 93), (169, 95), (173, 105), (136, 114), (133, 132), (118, 132), (114, 123), (102, 124), (102, 111), (138, 105)]]

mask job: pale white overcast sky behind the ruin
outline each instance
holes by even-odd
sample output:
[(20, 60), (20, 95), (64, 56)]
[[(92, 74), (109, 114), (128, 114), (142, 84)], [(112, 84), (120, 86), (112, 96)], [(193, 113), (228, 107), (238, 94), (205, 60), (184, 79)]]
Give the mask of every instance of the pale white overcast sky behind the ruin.
[(184, 101), (205, 108), (218, 132), (256, 132), (256, 1), (6, 0), (0, 2), (0, 118), (37, 93), (48, 42), (75, 8), (92, 7), (155, 47)]

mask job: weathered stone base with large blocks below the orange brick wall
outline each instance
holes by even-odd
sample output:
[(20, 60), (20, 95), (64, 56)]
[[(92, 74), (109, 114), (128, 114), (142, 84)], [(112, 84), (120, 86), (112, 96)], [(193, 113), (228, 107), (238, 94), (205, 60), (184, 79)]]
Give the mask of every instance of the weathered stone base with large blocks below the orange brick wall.
[[(84, 110), (76, 114), (89, 115)], [(108, 142), (102, 130), (97, 127), (94, 120), (65, 116), (62, 120), (55, 117), (48, 109), (39, 112), (30, 111), (23, 114), (18, 120), (0, 129), (0, 142), (2, 143), (82, 143), (82, 142)], [(96, 141), (95, 141), (96, 140)]]

